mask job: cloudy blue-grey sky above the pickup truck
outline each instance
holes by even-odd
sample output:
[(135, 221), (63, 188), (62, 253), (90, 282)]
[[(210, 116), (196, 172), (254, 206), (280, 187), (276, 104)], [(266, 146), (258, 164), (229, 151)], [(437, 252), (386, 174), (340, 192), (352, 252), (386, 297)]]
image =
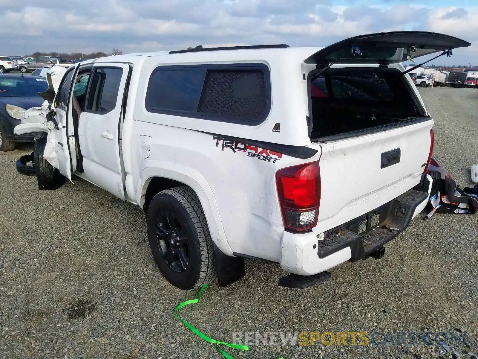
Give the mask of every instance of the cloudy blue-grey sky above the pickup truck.
[(478, 65), (478, 1), (0, 0), (0, 53), (124, 53), (196, 45), (326, 46), (358, 34), (423, 30), (472, 43), (436, 63)]

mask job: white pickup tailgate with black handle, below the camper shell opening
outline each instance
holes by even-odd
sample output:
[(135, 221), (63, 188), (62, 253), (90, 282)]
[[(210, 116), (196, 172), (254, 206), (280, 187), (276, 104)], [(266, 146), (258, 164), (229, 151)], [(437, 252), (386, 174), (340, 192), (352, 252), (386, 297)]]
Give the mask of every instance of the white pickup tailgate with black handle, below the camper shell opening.
[(418, 184), (430, 154), (432, 126), (433, 120), (429, 119), (313, 144), (322, 147), (321, 199), (315, 231), (344, 224)]

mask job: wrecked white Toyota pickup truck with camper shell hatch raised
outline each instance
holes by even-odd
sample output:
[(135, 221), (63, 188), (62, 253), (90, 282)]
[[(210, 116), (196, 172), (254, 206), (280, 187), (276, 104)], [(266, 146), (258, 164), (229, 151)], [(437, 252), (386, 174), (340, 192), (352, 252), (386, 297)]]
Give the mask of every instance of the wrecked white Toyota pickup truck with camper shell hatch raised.
[(393, 32), (104, 57), (73, 64), (46, 119), (15, 131), (36, 132), (39, 188), (75, 175), (141, 206), (176, 287), (228, 285), (258, 258), (304, 288), (381, 258), (424, 209), (433, 119), (401, 63), (469, 45)]

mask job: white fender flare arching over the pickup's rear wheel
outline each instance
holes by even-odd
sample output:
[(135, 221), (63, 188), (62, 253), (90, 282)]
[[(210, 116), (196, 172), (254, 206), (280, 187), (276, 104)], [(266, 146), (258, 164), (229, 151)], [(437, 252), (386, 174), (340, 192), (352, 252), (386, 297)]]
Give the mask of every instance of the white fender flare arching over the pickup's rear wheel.
[(148, 167), (141, 171), (141, 179), (136, 191), (137, 203), (147, 211), (156, 193), (174, 187), (190, 187), (201, 203), (213, 242), (224, 254), (232, 256), (233, 251), (228, 245), (216, 198), (206, 179), (192, 168), (169, 162), (152, 162), (154, 163), (148, 163)]

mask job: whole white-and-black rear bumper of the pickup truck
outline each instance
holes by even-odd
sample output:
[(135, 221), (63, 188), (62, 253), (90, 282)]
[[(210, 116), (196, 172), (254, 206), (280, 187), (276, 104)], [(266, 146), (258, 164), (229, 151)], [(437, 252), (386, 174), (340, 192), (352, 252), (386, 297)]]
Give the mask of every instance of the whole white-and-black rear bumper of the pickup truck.
[[(432, 181), (429, 175), (423, 175), (416, 188), (370, 213), (327, 231), (323, 240), (318, 240), (313, 233), (284, 232), (281, 268), (294, 274), (313, 275), (345, 261), (369, 258), (402, 233), (412, 219), (423, 211), (430, 196)], [(374, 217), (378, 219), (377, 224), (372, 224)]]

